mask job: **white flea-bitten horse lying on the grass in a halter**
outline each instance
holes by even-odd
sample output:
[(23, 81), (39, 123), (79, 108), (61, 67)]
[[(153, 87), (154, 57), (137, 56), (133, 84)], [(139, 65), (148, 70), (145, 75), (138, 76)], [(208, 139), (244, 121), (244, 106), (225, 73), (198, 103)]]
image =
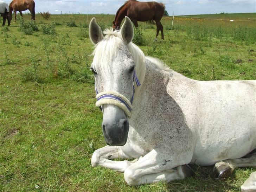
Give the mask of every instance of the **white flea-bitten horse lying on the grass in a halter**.
[[(108, 146), (93, 153), (92, 166), (124, 172), (128, 185), (184, 179), (193, 174), (186, 164), (216, 164), (218, 177), (256, 166), (256, 154), (242, 158), (256, 149), (256, 81), (196, 81), (174, 72), (132, 43), (128, 17), (120, 31), (104, 33), (93, 18), (91, 70)], [(256, 190), (253, 182), (254, 175), (243, 190)]]

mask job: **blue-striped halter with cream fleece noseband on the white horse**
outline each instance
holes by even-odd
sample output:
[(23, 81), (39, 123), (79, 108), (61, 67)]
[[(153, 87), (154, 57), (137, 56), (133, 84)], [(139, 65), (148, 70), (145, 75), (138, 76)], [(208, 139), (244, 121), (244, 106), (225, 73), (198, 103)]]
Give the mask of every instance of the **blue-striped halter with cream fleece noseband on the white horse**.
[(96, 85), (95, 85), (95, 92), (97, 94), (96, 95), (96, 98), (97, 98), (96, 106), (102, 110), (101, 105), (114, 104), (114, 105), (117, 105), (118, 107), (120, 107), (126, 113), (127, 116), (130, 116), (131, 111), (132, 111), (134, 93), (135, 93), (134, 81), (136, 82), (137, 87), (139, 87), (140, 81), (139, 81), (139, 78), (136, 76), (135, 71), (133, 72), (133, 95), (132, 95), (132, 98), (130, 99), (130, 101), (125, 96), (120, 94), (119, 92), (104, 91), (104, 92), (98, 93)]

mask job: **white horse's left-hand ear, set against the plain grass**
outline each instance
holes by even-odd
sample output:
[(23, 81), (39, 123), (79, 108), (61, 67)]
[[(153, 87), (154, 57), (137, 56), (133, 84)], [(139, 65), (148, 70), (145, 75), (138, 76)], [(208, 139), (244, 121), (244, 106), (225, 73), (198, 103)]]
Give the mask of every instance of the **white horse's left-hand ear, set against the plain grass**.
[(91, 19), (91, 22), (89, 25), (89, 35), (90, 35), (91, 42), (95, 45), (103, 39), (101, 28), (96, 23), (95, 18)]

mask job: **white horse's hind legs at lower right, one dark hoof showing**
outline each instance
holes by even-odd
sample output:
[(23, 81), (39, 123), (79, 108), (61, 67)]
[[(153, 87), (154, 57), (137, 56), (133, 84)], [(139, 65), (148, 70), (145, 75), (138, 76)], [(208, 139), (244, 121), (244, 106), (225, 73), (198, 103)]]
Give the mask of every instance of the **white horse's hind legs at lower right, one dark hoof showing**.
[[(214, 166), (214, 173), (217, 178), (223, 178), (231, 175), (236, 167), (256, 167), (256, 153), (248, 158), (227, 159), (217, 162)], [(256, 172), (253, 172), (244, 182), (241, 190), (242, 192), (256, 191)]]

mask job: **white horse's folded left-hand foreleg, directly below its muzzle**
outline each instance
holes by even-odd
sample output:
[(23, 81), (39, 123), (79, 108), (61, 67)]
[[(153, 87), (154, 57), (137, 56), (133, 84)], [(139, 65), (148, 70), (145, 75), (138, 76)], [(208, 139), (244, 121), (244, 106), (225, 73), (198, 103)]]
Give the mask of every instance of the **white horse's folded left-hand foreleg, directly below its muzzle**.
[(124, 172), (124, 170), (132, 165), (137, 159), (134, 161), (113, 161), (110, 159), (130, 159), (128, 155), (126, 155), (120, 147), (113, 146), (105, 146), (100, 149), (97, 149), (91, 157), (91, 165), (95, 166), (103, 166), (106, 168), (114, 169), (119, 172)]

